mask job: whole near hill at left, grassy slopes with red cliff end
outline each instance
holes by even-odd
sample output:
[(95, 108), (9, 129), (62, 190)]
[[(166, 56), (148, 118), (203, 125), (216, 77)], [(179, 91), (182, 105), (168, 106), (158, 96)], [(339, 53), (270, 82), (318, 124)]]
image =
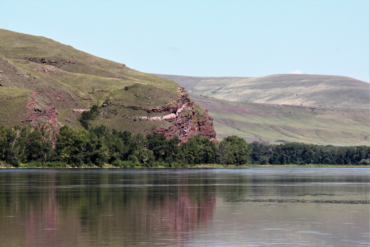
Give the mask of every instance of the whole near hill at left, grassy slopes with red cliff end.
[(173, 81), (128, 68), (45, 37), (0, 29), (0, 124), (91, 126), (213, 139), (212, 118)]

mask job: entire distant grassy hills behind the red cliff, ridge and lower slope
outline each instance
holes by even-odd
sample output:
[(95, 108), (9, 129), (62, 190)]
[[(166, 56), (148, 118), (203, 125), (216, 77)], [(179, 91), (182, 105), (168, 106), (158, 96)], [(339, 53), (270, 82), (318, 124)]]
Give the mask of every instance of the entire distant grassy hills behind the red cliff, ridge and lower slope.
[(218, 139), (235, 134), (275, 144), (370, 145), (370, 90), (363, 81), (295, 74), (158, 76), (185, 86), (194, 102), (208, 109)]

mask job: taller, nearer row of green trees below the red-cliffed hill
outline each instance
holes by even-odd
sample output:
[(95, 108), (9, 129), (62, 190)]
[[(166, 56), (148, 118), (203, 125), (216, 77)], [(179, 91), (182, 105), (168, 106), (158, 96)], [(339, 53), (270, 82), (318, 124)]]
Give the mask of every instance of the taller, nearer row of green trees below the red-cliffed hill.
[[(55, 134), (50, 127), (0, 126), (0, 160), (20, 163), (81, 167), (84, 164), (119, 167), (182, 166), (192, 164), (246, 164), (250, 148), (242, 138), (229, 136), (217, 143), (194, 136), (179, 145), (176, 136), (117, 131), (105, 126), (74, 130), (68, 126)], [(42, 165), (42, 164), (41, 164)]]

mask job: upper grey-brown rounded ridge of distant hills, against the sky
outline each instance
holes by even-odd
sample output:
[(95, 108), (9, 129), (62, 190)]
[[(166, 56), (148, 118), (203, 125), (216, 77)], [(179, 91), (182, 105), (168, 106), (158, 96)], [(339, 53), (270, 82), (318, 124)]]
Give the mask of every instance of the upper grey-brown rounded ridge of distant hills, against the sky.
[(344, 76), (277, 74), (263, 77), (162, 75), (189, 93), (267, 104), (369, 108), (370, 84)]

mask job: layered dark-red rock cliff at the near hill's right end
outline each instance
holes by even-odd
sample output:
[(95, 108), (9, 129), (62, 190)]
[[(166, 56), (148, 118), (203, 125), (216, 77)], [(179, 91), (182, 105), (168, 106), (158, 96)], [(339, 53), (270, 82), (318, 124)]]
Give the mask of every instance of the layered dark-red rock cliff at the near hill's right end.
[[(216, 132), (213, 128), (212, 117), (207, 110), (202, 114), (195, 111), (194, 102), (189, 98), (184, 88), (181, 88), (182, 96), (176, 102), (171, 102), (163, 107), (151, 109), (153, 112), (170, 113), (154, 121), (168, 121), (173, 123), (169, 128), (158, 128), (156, 134), (163, 134), (166, 138), (178, 136), (181, 142), (186, 142), (189, 138), (200, 135), (211, 141), (216, 140)], [(149, 112), (150, 110), (147, 109)]]

